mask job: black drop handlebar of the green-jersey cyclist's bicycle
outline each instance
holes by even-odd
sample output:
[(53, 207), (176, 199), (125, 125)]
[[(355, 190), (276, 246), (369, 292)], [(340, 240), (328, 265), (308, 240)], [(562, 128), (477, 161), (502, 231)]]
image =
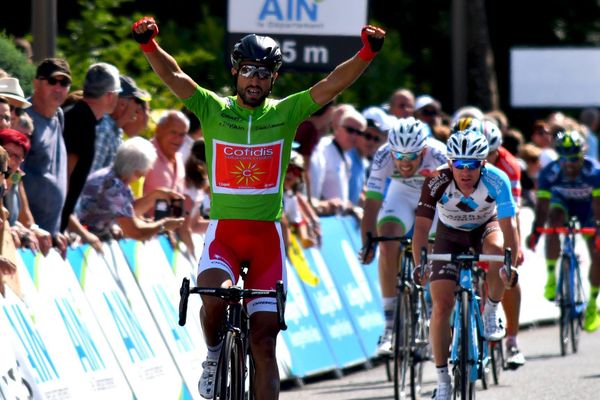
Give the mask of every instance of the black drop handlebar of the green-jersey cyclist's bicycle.
[(238, 303), (242, 299), (252, 299), (256, 297), (271, 297), (277, 301), (277, 319), (279, 328), (282, 331), (287, 329), (285, 323), (285, 292), (283, 282), (277, 281), (275, 290), (266, 289), (242, 289), (239, 286), (230, 286), (229, 288), (206, 288), (194, 287), (190, 289), (190, 280), (183, 278), (181, 288), (179, 289), (179, 325), (184, 326), (187, 319), (187, 306), (190, 294), (196, 293), (205, 296), (219, 297), (228, 303)]

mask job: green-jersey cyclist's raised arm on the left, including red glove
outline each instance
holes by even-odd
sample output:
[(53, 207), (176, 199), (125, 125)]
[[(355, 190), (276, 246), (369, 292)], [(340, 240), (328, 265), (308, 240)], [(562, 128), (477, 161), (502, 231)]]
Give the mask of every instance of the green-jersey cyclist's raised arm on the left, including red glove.
[(158, 25), (154, 18), (143, 17), (131, 28), (133, 38), (140, 43), (146, 59), (152, 69), (171, 89), (175, 96), (187, 99), (194, 94), (196, 82), (179, 68), (177, 61), (164, 51), (154, 40), (158, 35)]

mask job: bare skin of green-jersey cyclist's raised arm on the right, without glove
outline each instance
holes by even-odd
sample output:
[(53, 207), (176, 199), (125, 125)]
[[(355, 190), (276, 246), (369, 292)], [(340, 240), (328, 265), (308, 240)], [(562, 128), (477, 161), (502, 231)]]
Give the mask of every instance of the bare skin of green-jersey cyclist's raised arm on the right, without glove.
[[(383, 39), (385, 31), (369, 26), (365, 30), (367, 37)], [(367, 46), (368, 44), (365, 44)], [(310, 94), (315, 103), (324, 106), (344, 89), (350, 86), (369, 66), (371, 61), (363, 60), (358, 54), (339, 64), (323, 80), (310, 88)]]

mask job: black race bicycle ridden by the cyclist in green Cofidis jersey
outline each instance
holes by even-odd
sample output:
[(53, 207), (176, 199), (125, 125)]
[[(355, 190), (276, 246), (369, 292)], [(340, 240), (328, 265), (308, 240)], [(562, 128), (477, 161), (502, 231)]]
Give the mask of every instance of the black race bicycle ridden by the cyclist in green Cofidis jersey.
[[(271, 297), (277, 301), (277, 317), (280, 329), (286, 330), (284, 319), (285, 292), (283, 282), (278, 281), (276, 290), (229, 288), (190, 288), (190, 280), (184, 278), (179, 290), (179, 325), (186, 322), (189, 295), (219, 297), (226, 302), (226, 318), (223, 320), (221, 354), (215, 375), (215, 400), (253, 400), (254, 362), (250, 349), (250, 317), (242, 304), (243, 299)], [(248, 377), (248, 390), (246, 390)], [(246, 393), (248, 397), (246, 397)]]

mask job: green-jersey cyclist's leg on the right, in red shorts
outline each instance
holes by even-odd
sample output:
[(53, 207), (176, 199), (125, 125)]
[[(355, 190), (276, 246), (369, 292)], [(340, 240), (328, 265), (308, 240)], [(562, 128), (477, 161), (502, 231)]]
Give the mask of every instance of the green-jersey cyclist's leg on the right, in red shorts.
[[(285, 246), (278, 222), (255, 222), (254, 252), (244, 285), (254, 289), (274, 290), (277, 281), (286, 285)], [(250, 346), (256, 374), (254, 397), (277, 399), (279, 369), (275, 354), (279, 324), (277, 302), (273, 298), (257, 298), (247, 302), (250, 314)]]

